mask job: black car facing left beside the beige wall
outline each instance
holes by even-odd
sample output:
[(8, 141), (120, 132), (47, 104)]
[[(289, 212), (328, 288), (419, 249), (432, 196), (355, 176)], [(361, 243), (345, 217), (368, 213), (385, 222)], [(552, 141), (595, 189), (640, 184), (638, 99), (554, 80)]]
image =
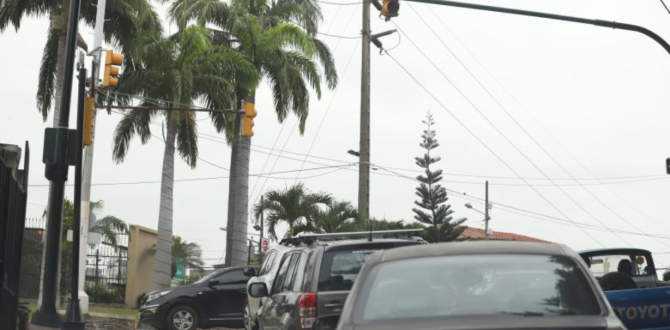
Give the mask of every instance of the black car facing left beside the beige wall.
[(195, 330), (244, 326), (247, 297), (245, 275), (256, 267), (231, 267), (199, 281), (147, 294), (138, 315), (138, 329)]

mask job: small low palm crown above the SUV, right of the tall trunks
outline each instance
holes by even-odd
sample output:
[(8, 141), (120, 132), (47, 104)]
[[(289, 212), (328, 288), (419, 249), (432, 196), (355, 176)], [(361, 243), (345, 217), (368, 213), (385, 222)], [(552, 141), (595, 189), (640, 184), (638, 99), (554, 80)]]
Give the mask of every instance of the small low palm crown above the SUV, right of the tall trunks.
[(288, 225), (286, 236), (293, 236), (296, 228), (304, 228), (314, 222), (314, 216), (320, 206), (328, 206), (333, 199), (326, 193), (310, 193), (302, 183), (298, 183), (285, 190), (272, 190), (265, 193), (262, 202), (254, 206), (256, 221), (261, 213), (266, 212), (265, 221), (268, 234), (277, 239), (277, 225), (284, 222)]

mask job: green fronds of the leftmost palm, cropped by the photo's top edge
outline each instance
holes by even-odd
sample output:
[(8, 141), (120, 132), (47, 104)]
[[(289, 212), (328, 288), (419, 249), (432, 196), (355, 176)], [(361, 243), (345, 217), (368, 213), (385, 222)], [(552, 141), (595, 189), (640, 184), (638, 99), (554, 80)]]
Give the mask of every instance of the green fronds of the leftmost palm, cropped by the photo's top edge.
[[(60, 117), (60, 98), (65, 77), (65, 35), (71, 0), (0, 0), (0, 32), (8, 26), (16, 30), (26, 16), (49, 16), (51, 24), (40, 67), (37, 108), (44, 120), (54, 109), (54, 127)], [(81, 2), (80, 18), (88, 26), (95, 25), (96, 0)], [(143, 29), (161, 29), (158, 15), (148, 0), (116, 0), (107, 2), (105, 39), (123, 48)]]

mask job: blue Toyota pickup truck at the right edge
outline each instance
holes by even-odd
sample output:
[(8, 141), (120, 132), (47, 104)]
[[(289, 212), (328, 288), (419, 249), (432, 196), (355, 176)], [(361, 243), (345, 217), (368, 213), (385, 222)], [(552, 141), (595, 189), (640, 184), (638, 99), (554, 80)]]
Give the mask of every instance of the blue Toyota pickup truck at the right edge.
[(659, 281), (651, 252), (620, 248), (580, 255), (628, 329), (670, 329), (670, 283)]

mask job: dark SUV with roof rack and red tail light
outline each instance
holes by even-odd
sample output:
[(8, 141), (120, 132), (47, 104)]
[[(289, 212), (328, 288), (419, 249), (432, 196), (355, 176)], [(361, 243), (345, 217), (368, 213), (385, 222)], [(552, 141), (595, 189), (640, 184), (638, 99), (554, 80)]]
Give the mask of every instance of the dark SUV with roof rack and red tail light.
[[(424, 244), (410, 237), (420, 230), (304, 235), (285, 240), (272, 287), (252, 283), (249, 295), (262, 297), (251, 329), (334, 329), (344, 301), (367, 258), (377, 250)], [(373, 238), (406, 235), (408, 239)], [(369, 235), (368, 238), (352, 239)], [(333, 240), (335, 239), (335, 240)], [(253, 318), (253, 316), (252, 316)], [(316, 325), (315, 325), (316, 323)]]

